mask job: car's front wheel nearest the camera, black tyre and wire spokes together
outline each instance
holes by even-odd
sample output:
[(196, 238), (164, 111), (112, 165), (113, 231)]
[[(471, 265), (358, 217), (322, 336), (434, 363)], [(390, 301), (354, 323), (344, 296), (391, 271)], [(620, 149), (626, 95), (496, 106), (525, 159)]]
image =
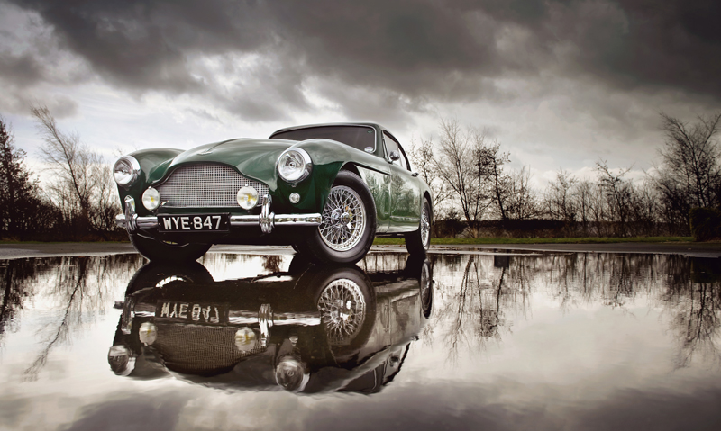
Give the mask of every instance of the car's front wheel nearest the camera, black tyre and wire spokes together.
[(376, 204), (360, 176), (338, 173), (322, 215), (322, 224), (309, 232), (306, 242), (297, 243), (301, 253), (336, 264), (354, 264), (366, 256), (376, 236)]

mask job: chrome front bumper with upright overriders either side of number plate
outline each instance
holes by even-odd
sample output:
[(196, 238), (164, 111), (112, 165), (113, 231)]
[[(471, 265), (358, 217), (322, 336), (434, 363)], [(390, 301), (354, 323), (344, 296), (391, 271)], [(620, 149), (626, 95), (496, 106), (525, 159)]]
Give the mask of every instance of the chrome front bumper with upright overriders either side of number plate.
[[(319, 226), (321, 215), (312, 214), (276, 214), (270, 211), (272, 199), (269, 195), (263, 196), (263, 204), (259, 215), (231, 215), (231, 227), (242, 228), (260, 226), (260, 230), (268, 234), (276, 226)], [(135, 202), (132, 196), (125, 197), (125, 212), (115, 216), (115, 224), (125, 228), (128, 233), (135, 233), (138, 229), (157, 229), (157, 216), (140, 217), (135, 213)]]

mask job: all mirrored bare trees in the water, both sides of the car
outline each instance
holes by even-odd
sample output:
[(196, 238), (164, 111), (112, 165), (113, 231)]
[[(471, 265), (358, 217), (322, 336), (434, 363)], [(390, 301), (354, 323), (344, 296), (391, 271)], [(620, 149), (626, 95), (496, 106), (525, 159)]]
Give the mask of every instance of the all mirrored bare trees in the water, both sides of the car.
[[(570, 253), (480, 256), (432, 255), (435, 311), (419, 337), (440, 342), (448, 359), (466, 350), (500, 345), (514, 321), (533, 317), (533, 300), (557, 304), (562, 313), (601, 304), (632, 312), (634, 302), (658, 310), (677, 343), (675, 366), (721, 364), (721, 271), (717, 259), (668, 255)], [(274, 272), (290, 256), (209, 254), (204, 265), (223, 270), (250, 267)], [(36, 350), (24, 367), (36, 378), (57, 346), (112, 307), (109, 292), (126, 286), (143, 259), (137, 255), (53, 257), (0, 262), (0, 346), (20, 328), (23, 310), (47, 311), (34, 337)], [(372, 253), (366, 271), (401, 270), (404, 254)], [(255, 265), (255, 264), (253, 264)], [(2, 354), (2, 351), (0, 351)]]

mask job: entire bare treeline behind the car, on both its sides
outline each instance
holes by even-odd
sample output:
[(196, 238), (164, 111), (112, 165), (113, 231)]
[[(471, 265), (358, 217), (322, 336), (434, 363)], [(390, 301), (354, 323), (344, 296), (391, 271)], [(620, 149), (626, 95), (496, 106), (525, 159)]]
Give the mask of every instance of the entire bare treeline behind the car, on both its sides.
[[(0, 117), (0, 238), (126, 238), (114, 226), (121, 208), (107, 161), (77, 133), (59, 130), (46, 107), (31, 112), (44, 143), (41, 160), (54, 181), (41, 186), (33, 178)], [(711, 239), (721, 237), (719, 121), (721, 112), (695, 122), (662, 114), (660, 161), (643, 184), (626, 177), (630, 168), (598, 160), (595, 180), (561, 170), (545, 190), (536, 190), (530, 169), (510, 169), (510, 155), (497, 140), (445, 119), (438, 138), (415, 142), (409, 156), (434, 191), (434, 237)]]

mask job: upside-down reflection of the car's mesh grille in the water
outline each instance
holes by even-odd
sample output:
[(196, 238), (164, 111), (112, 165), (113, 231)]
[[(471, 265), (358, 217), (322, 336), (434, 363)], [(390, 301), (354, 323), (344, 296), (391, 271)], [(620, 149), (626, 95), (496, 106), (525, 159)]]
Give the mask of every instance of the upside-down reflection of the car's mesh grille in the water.
[(160, 352), (165, 366), (178, 373), (221, 373), (242, 358), (266, 350), (262, 346), (248, 352), (238, 350), (235, 346), (238, 328), (176, 324), (159, 324), (157, 328), (158, 338), (153, 347)]

